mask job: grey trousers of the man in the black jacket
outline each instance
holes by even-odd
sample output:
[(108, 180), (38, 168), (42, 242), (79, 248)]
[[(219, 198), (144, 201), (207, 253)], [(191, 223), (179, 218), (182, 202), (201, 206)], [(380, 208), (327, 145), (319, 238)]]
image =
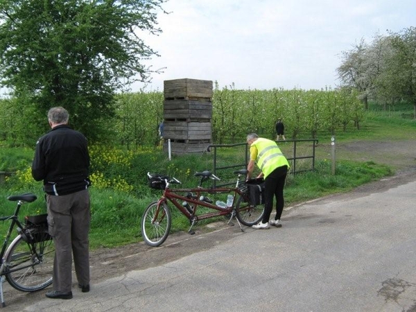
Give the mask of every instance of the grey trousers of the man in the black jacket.
[(78, 284), (89, 284), (89, 191), (46, 195), (46, 204), (49, 234), (55, 244), (53, 290), (71, 291), (72, 256)]

